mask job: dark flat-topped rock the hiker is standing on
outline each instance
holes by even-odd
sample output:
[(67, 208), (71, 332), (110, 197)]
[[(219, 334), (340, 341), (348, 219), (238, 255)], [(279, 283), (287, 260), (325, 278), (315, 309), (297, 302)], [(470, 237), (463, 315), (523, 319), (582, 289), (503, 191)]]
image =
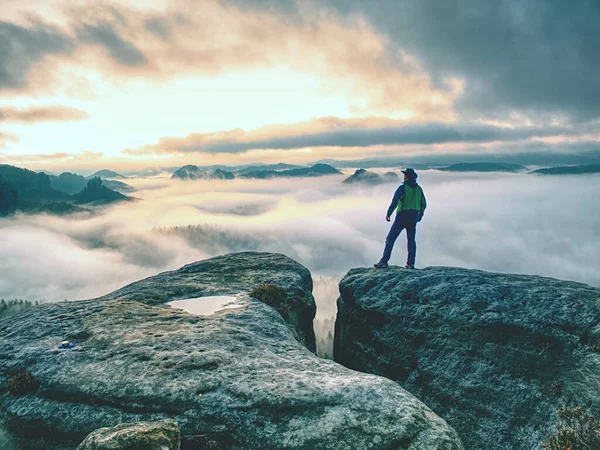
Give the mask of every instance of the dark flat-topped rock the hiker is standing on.
[(600, 413), (600, 289), (431, 267), (351, 270), (334, 358), (396, 380), (469, 449), (533, 449), (555, 410)]

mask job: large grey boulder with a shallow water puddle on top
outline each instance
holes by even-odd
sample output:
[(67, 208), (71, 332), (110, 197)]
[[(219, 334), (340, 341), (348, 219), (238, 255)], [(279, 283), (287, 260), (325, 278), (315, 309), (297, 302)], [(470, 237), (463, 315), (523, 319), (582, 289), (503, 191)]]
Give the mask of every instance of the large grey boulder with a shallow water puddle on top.
[[(177, 420), (183, 450), (463, 448), (393, 381), (311, 353), (248, 295), (265, 282), (297, 300), (299, 315), (301, 303), (314, 306), (305, 268), (244, 253), (3, 319), (3, 425), (27, 450), (71, 450), (98, 428), (164, 418)], [(236, 307), (194, 316), (163, 304), (215, 294), (237, 294)], [(59, 349), (64, 340), (77, 345)]]

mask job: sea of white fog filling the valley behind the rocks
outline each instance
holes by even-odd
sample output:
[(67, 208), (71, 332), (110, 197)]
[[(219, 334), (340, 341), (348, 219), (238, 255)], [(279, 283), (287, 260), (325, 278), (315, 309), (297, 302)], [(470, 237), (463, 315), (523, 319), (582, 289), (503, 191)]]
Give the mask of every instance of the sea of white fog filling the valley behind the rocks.
[[(244, 250), (281, 252), (317, 280), (339, 279), (380, 258), (396, 188), (348, 186), (344, 177), (129, 179), (140, 200), (94, 217), (1, 219), (0, 298), (90, 298)], [(600, 286), (600, 175), (421, 171), (419, 181), (428, 208), (417, 229), (417, 267), (539, 274)], [(401, 235), (391, 263), (404, 265), (405, 258)]]

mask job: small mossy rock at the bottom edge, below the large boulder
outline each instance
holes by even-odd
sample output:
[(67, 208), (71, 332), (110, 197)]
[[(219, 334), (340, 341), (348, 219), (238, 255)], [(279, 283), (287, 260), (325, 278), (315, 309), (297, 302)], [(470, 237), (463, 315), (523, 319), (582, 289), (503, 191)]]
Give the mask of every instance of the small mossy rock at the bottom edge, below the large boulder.
[(77, 450), (179, 450), (179, 427), (172, 419), (123, 423), (93, 431)]

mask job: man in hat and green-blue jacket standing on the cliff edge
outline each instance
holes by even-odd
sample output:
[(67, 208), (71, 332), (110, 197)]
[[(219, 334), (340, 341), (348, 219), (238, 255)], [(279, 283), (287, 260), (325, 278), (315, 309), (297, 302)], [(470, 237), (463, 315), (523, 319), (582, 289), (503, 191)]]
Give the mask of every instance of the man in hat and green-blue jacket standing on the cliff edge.
[(413, 169), (403, 170), (402, 173), (404, 174), (404, 184), (396, 190), (392, 203), (385, 215), (385, 220), (389, 222), (394, 209), (397, 211), (392, 228), (385, 239), (383, 256), (375, 264), (377, 269), (387, 269), (394, 243), (404, 229), (406, 229), (406, 239), (408, 240), (408, 259), (404, 267), (407, 269), (415, 268), (415, 256), (417, 253), (415, 234), (417, 232), (417, 222), (420, 222), (423, 218), (427, 202), (425, 194), (423, 194), (423, 189), (417, 184), (417, 173)]

